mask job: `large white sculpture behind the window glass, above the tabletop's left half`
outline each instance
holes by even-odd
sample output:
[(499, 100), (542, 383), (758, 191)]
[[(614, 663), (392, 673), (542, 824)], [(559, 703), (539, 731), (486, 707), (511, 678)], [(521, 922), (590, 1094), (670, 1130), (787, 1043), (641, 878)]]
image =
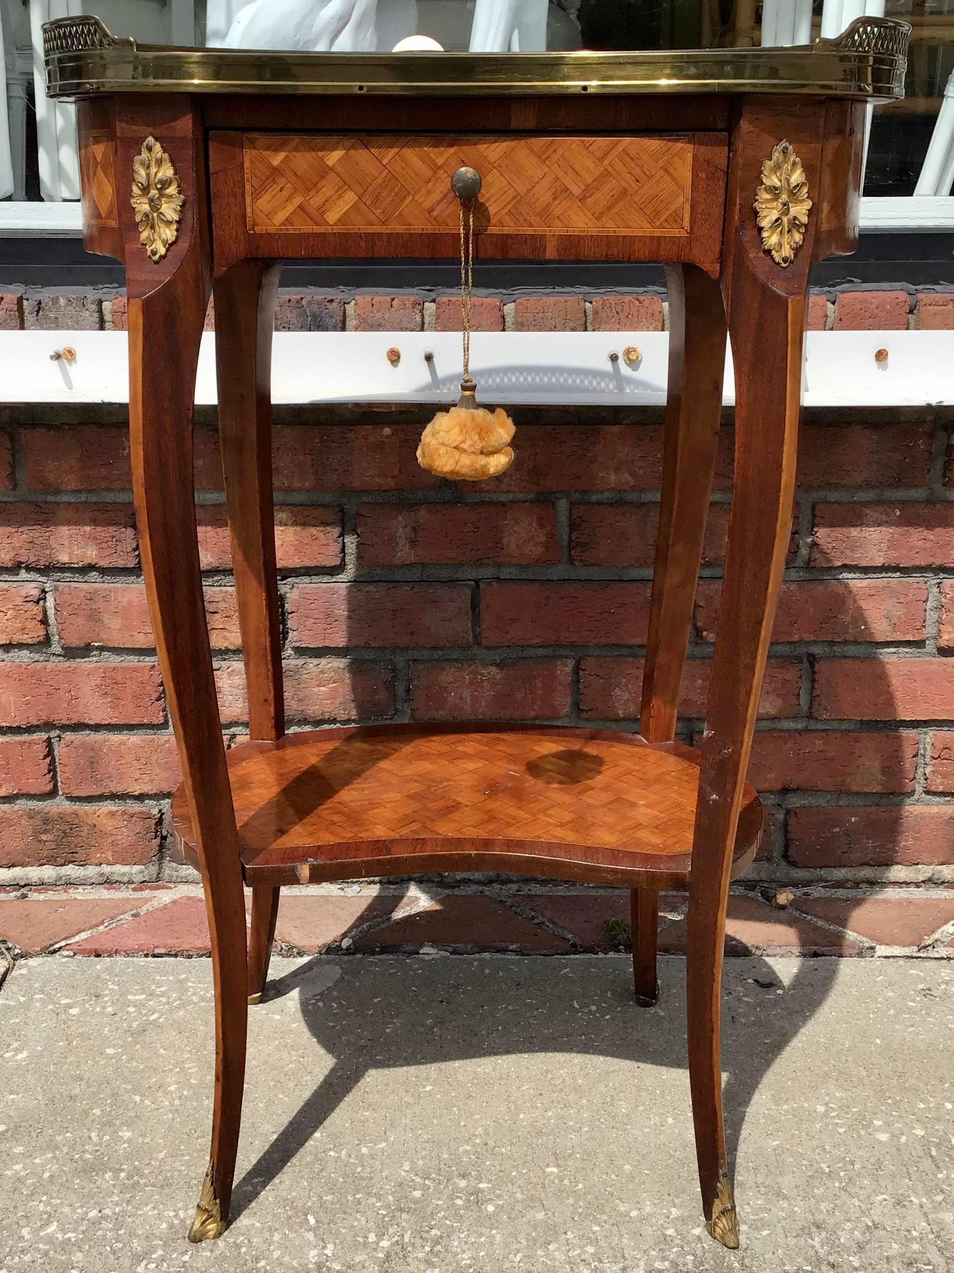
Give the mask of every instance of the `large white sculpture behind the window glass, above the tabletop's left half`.
[(253, 0), (238, 13), (225, 48), (373, 52), (378, 0)]

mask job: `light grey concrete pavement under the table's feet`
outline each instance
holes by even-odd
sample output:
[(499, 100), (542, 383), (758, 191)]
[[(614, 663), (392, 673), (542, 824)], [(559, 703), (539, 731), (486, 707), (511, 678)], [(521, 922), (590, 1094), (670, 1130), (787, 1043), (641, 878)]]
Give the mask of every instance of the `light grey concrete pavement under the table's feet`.
[(702, 1230), (684, 962), (276, 960), (233, 1223), (192, 1248), (202, 959), (34, 959), (0, 992), (0, 1273), (946, 1273), (954, 964), (726, 964), (742, 1250)]

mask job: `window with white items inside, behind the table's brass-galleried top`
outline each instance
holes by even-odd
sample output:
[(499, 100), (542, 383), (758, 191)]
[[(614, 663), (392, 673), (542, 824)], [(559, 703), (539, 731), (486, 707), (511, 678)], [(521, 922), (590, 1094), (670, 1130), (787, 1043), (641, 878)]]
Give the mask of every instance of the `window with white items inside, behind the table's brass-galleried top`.
[[(865, 193), (890, 197), (903, 224), (898, 197), (948, 196), (954, 178), (954, 0), (887, 0), (887, 9), (885, 0), (0, 0), (0, 190), (15, 201), (76, 196), (69, 107), (42, 101), (42, 88), (36, 99), (39, 27), (67, 14), (95, 13), (114, 34), (144, 43), (384, 52), (411, 41), (528, 52), (804, 43), (881, 10), (913, 32), (907, 97), (874, 115)], [(921, 228), (941, 228), (951, 223), (948, 207), (954, 202), (912, 202), (909, 215), (927, 210)]]

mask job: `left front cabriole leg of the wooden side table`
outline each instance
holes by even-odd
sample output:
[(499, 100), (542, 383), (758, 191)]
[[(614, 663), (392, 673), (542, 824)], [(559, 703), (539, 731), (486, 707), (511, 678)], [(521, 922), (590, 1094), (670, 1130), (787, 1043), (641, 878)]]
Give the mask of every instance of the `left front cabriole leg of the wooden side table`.
[[(117, 199), (126, 243), (130, 453), (142, 573), (169, 714), (192, 812), (211, 934), (215, 1094), (204, 1232), (228, 1220), (245, 1071), (245, 908), (235, 815), (212, 677), (196, 535), (192, 416), (198, 346), (211, 292), (202, 132), (188, 99), (123, 99), (117, 195), (149, 135), (173, 157), (186, 196), (178, 241), (158, 265)], [(212, 1214), (214, 1213), (214, 1214)]]

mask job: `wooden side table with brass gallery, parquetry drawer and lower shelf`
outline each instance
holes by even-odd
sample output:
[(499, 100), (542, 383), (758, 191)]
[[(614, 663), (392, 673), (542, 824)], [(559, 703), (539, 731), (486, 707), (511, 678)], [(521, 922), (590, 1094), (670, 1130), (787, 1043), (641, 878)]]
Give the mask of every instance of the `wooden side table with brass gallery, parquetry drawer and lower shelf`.
[[(146, 47), (95, 18), (45, 33), (50, 93), (79, 103), (86, 247), (126, 267), (136, 517), (184, 774), (174, 830), (201, 871), (212, 938), (212, 1146), (190, 1237), (228, 1222), (247, 1007), (265, 988), (281, 886), (509, 871), (630, 889), (641, 1002), (656, 997), (659, 891), (688, 887), (702, 1207), (711, 1235), (738, 1246), (722, 938), (729, 882), (761, 835), (745, 769), (791, 528), (805, 294), (813, 262), (856, 246), (865, 103), (902, 95), (907, 25), (860, 19), (804, 48), (500, 56)], [(450, 177), (464, 165), (483, 178), (478, 258), (665, 264), (669, 402), (640, 736), (285, 732), (270, 446), (279, 262), (454, 258)], [(251, 733), (228, 756), (192, 477), (212, 294)], [(735, 471), (696, 751), (674, 732), (726, 326)]]

